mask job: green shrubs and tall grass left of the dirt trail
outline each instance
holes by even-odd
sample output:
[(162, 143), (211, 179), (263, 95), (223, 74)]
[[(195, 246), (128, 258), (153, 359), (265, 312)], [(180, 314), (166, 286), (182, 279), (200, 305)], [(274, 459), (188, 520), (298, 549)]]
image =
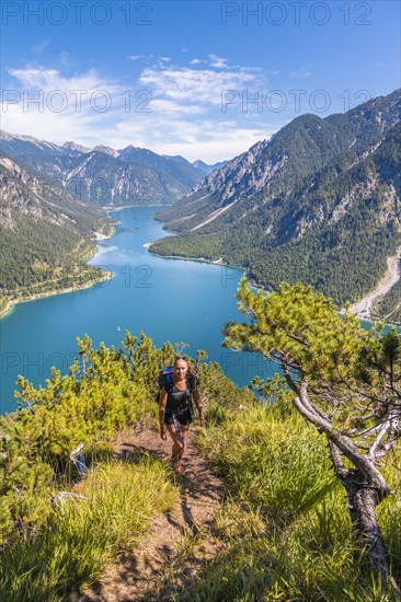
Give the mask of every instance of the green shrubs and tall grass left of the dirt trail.
[[(116, 431), (154, 420), (157, 375), (174, 347), (157, 349), (129, 332), (118, 351), (93, 349), (88, 335), (77, 343), (68, 374), (53, 370), (38, 389), (20, 378), (19, 409), (0, 418), (0, 598), (8, 600), (65, 599), (131, 552), (150, 516), (176, 499), (169, 468), (150, 458), (101, 463)], [(69, 454), (80, 442), (89, 474), (72, 488)]]

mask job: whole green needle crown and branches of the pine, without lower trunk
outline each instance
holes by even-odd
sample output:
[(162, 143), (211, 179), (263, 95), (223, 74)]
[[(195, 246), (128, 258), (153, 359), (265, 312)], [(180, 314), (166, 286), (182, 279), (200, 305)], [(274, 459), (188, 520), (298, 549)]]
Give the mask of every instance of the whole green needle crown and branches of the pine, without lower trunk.
[[(225, 345), (277, 362), (296, 395), (305, 387), (299, 412), (336, 444), (346, 433), (365, 454), (381, 421), (389, 420), (390, 429), (373, 448), (380, 459), (387, 455), (401, 409), (400, 334), (364, 331), (355, 316), (339, 315), (331, 300), (301, 283), (283, 283), (265, 296), (243, 279), (238, 298), (251, 322), (228, 324)], [(346, 454), (356, 461), (351, 448)]]

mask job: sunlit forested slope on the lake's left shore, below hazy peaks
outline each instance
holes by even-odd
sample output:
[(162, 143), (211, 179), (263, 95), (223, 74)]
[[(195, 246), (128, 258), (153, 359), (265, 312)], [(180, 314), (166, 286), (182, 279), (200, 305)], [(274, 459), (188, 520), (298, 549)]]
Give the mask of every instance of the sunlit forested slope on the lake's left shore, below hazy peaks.
[(12, 300), (83, 286), (102, 271), (85, 265), (106, 215), (82, 202), (33, 169), (0, 158), (0, 298)]

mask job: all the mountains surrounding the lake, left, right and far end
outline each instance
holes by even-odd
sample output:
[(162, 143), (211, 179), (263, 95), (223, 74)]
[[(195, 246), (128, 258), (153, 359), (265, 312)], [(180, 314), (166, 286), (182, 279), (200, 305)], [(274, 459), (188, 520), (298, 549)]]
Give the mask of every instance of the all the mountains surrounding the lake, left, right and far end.
[[(302, 115), (214, 165), (2, 131), (2, 306), (54, 282), (66, 288), (78, 266), (91, 281), (84, 259), (111, 232), (104, 209), (127, 205), (171, 206), (158, 219), (175, 234), (154, 253), (238, 265), (268, 290), (301, 280), (339, 306), (355, 302), (389, 257), (400, 265), (400, 116), (397, 90), (324, 119)], [(371, 315), (401, 322), (394, 282)]]

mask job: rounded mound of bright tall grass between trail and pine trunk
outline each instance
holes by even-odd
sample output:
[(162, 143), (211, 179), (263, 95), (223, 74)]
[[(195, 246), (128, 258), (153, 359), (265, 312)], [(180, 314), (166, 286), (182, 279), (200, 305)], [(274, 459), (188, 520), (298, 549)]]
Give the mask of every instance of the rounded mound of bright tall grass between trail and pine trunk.
[(272, 520), (309, 510), (334, 485), (324, 441), (279, 407), (245, 408), (200, 438), (236, 496)]

